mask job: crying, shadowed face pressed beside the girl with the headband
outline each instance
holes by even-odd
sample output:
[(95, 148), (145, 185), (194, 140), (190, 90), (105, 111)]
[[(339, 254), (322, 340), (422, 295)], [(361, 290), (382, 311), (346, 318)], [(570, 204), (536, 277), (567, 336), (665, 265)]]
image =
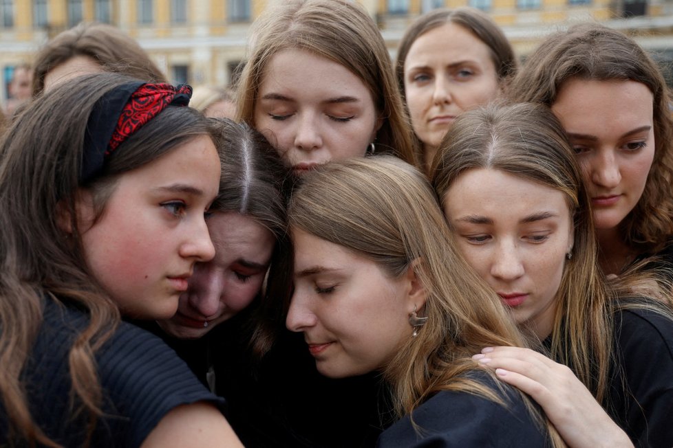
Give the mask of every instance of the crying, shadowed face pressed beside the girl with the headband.
[(214, 212), (206, 223), (215, 257), (197, 263), (178, 313), (158, 322), (180, 339), (202, 337), (245, 309), (261, 289), (275, 245), (269, 229), (250, 216)]

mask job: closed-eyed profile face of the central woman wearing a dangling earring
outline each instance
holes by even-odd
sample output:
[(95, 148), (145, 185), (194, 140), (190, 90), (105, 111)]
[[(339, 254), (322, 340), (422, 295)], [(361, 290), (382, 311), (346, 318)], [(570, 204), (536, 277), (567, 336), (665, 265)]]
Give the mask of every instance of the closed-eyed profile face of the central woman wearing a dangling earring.
[(372, 260), (299, 229), (292, 244), (295, 291), (286, 325), (303, 333), (317, 370), (344, 378), (383, 368), (412, 334), (412, 269), (391, 278)]

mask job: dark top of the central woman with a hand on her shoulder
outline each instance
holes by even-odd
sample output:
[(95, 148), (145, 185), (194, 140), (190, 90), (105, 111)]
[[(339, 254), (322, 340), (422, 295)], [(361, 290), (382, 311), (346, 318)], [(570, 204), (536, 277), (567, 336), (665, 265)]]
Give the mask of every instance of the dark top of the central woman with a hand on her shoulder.
[[(442, 391), (386, 429), (378, 438), (381, 448), (545, 447), (546, 427), (526, 409), (520, 394), (495, 384), (485, 372), (471, 374), (504, 399), (500, 405), (468, 392)], [(416, 425), (412, 425), (413, 422)]]

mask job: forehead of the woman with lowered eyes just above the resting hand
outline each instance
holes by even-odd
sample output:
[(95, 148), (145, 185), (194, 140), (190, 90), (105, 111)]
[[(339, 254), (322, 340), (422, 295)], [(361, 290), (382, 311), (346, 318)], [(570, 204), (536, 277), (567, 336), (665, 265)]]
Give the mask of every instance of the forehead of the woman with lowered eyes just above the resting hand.
[(462, 214), (475, 214), (518, 221), (543, 209), (559, 216), (570, 214), (564, 192), (489, 168), (463, 172), (447, 191), (443, 205), (452, 219)]

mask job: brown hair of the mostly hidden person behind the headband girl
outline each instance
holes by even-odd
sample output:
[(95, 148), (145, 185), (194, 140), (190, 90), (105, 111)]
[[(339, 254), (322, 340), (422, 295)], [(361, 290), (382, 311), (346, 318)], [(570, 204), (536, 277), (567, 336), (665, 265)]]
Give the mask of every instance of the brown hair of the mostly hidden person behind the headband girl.
[(113, 25), (80, 23), (58, 34), (40, 49), (33, 62), (33, 96), (44, 89), (45, 76), (75, 56), (92, 58), (104, 71), (145, 82), (167, 82), (138, 42)]

